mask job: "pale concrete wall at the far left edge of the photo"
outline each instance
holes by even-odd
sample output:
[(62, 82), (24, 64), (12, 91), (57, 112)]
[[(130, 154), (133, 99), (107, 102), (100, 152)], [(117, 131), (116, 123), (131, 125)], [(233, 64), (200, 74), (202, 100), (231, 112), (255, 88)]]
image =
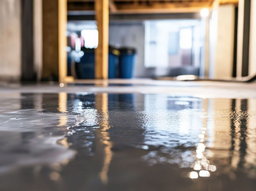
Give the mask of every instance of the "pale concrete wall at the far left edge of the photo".
[(0, 0), (0, 80), (21, 75), (20, 0)]

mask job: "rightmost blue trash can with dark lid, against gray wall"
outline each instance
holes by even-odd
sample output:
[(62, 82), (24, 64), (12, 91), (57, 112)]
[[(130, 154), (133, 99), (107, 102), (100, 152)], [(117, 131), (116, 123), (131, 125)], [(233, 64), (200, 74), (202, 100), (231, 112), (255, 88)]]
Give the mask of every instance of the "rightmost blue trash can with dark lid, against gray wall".
[(136, 49), (120, 48), (119, 51), (119, 77), (133, 78)]

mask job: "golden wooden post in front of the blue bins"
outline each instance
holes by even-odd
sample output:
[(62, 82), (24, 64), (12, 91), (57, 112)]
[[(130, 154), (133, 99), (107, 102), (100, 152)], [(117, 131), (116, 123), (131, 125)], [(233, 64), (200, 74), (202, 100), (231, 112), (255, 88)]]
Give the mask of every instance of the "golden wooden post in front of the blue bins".
[(99, 44), (95, 52), (95, 78), (107, 79), (109, 70), (109, 0), (95, 0)]

